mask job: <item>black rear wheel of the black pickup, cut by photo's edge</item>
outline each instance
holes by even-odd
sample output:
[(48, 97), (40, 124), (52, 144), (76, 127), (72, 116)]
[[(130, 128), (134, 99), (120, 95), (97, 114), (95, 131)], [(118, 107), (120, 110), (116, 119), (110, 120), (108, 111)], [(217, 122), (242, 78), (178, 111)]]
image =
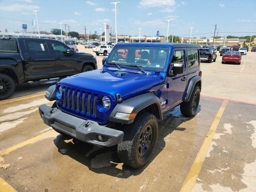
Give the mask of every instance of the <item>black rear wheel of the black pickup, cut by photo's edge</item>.
[(6, 74), (0, 74), (0, 100), (10, 97), (14, 90), (14, 80)]

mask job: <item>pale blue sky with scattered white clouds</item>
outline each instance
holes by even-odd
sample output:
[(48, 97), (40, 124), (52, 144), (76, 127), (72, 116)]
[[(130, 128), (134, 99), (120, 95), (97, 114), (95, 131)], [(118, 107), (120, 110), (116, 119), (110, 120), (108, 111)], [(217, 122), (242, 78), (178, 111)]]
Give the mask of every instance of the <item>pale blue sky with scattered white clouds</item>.
[[(27, 31), (36, 31), (32, 19), (38, 12), (40, 30), (50, 32), (59, 28), (58, 23), (66, 23), (70, 31), (84, 34), (84, 26), (94, 33), (104, 28), (107, 22), (115, 28), (114, 5), (111, 0), (0, 0), (0, 21), (8, 32), (22, 31), (22, 24), (27, 24)], [(219, 36), (256, 35), (256, 0), (120, 0), (117, 5), (118, 34), (141, 36), (167, 34), (167, 21), (170, 21), (169, 34), (190, 36), (213, 36), (214, 24), (217, 24)], [(64, 28), (64, 26), (62, 26)], [(102, 32), (104, 29), (102, 29)], [(198, 32), (197, 32), (198, 31)], [(250, 32), (250, 33), (246, 33)], [(209, 33), (209, 34), (208, 34)]]

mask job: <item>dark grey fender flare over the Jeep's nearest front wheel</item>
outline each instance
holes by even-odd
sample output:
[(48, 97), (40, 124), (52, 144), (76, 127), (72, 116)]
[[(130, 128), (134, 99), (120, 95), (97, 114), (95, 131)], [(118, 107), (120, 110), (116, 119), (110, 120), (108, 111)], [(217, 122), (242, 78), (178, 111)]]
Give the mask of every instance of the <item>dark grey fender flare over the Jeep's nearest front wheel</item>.
[(128, 100), (124, 100), (122, 103), (117, 104), (110, 114), (109, 121), (130, 124), (134, 121), (136, 116), (134, 116), (133, 118), (130, 118), (129, 120), (124, 120), (124, 119), (116, 118), (115, 117), (116, 112), (128, 113), (128, 114), (136, 113), (137, 115), (138, 112), (140, 112), (141, 110), (145, 109), (150, 105), (154, 106), (154, 110), (152, 111), (154, 115), (158, 119), (162, 120), (163, 114), (161, 110), (160, 100), (153, 92), (150, 92), (150, 93), (145, 93), (139, 96), (132, 97)]

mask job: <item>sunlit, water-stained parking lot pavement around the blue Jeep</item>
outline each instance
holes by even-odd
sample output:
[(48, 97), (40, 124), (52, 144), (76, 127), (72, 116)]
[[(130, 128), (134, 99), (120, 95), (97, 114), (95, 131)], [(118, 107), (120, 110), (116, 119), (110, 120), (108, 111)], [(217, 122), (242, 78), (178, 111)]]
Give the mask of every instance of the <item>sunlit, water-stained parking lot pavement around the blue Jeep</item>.
[[(96, 58), (100, 68), (103, 56)], [(54, 132), (38, 112), (39, 105), (53, 103), (44, 98), (48, 84), (24, 85), (16, 93), (21, 97), (0, 101), (0, 189), (254, 191), (256, 53), (242, 56), (241, 65), (221, 64), (220, 58), (201, 63), (196, 116), (182, 116), (179, 107), (166, 114), (154, 154), (139, 170), (120, 163), (116, 146), (98, 148)]]

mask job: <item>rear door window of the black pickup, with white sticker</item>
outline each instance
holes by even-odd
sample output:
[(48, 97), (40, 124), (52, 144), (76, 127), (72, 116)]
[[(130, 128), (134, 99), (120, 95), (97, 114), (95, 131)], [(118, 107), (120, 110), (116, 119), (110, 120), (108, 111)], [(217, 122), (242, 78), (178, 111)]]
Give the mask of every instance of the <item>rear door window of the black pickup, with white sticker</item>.
[(45, 41), (42, 40), (25, 40), (26, 50), (32, 54), (49, 54)]

